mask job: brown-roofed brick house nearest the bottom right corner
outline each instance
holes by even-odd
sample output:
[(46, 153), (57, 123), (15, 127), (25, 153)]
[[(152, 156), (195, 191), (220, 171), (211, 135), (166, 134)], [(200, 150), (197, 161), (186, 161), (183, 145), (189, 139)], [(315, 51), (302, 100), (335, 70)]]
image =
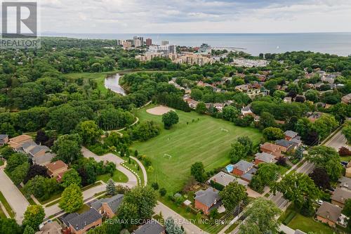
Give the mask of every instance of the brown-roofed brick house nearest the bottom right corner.
[(327, 223), (329, 226), (335, 227), (342, 210), (342, 208), (329, 202), (323, 202), (316, 212), (316, 218), (322, 223)]

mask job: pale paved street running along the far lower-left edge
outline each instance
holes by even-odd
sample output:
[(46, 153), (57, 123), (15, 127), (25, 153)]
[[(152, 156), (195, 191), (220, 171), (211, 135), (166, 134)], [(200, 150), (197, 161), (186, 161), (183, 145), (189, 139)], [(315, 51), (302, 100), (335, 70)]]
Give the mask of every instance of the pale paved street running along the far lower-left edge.
[(25, 197), (20, 193), (20, 190), (13, 184), (10, 178), (5, 174), (3, 169), (0, 169), (0, 191), (6, 198), (8, 204), (15, 212), (15, 219), (18, 223), (22, 223), (23, 214), (25, 214), (25, 210), (27, 206), (29, 206), (29, 202)]

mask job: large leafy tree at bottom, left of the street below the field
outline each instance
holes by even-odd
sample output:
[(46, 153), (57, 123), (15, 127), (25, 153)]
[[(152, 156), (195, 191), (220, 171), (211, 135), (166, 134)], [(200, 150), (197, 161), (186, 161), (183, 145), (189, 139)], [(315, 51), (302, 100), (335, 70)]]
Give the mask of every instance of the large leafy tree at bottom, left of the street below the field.
[(150, 219), (157, 204), (156, 192), (149, 186), (137, 186), (124, 195), (124, 202), (137, 207), (138, 219)]

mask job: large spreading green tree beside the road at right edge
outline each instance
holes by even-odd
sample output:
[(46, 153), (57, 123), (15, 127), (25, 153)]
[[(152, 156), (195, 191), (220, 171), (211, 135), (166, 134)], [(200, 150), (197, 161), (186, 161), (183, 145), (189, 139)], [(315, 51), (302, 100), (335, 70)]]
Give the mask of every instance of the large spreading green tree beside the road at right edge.
[(333, 181), (337, 181), (343, 171), (338, 152), (328, 146), (319, 145), (310, 148), (306, 160), (314, 163), (316, 167), (326, 169), (326, 172)]

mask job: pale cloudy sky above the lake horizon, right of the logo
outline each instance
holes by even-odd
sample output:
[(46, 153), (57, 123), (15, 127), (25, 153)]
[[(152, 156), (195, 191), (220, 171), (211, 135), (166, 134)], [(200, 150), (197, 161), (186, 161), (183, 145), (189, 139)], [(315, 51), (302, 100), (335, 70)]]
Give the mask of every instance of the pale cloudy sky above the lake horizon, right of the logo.
[(41, 32), (351, 32), (351, 0), (40, 0)]

